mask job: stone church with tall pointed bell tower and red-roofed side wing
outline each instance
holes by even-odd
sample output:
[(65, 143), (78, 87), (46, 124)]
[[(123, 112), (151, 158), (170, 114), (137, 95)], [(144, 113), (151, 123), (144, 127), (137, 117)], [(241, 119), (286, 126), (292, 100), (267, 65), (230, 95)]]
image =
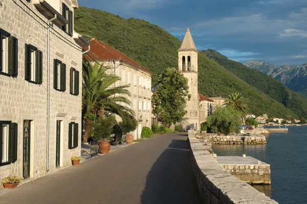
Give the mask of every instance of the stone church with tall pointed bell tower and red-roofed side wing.
[(224, 98), (208, 98), (198, 93), (198, 50), (190, 30), (186, 31), (181, 47), (178, 49), (178, 68), (188, 79), (190, 100), (187, 100), (186, 115), (181, 122), (183, 130), (200, 130), (200, 124), (214, 111), (215, 103), (222, 106)]

